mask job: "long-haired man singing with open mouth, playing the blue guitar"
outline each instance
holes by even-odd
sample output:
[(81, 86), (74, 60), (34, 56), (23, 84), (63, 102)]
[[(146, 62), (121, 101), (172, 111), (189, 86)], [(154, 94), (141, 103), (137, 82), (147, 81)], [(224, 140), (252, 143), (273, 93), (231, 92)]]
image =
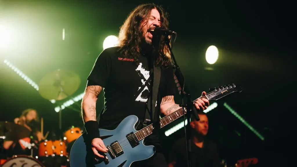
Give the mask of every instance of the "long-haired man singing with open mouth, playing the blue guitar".
[[(104, 157), (99, 152), (107, 152), (108, 149), (99, 138), (98, 128), (114, 130), (129, 115), (137, 116), (140, 120), (139, 125), (142, 125), (152, 91), (151, 69), (154, 65), (161, 67), (158, 92), (160, 98), (157, 99), (155, 113), (166, 116), (180, 108), (174, 102), (176, 87), (169, 48), (164, 38), (161, 38), (158, 45), (152, 42), (154, 36), (152, 31), (156, 27), (168, 29), (168, 19), (163, 9), (154, 4), (136, 7), (121, 26), (119, 45), (100, 53), (87, 78), (82, 100), (82, 115), (92, 150), (99, 157)], [(96, 101), (102, 89), (105, 103), (98, 124)], [(199, 99), (195, 103), (195, 107), (200, 110), (206, 109), (208, 105), (207, 99)], [(141, 129), (141, 126), (136, 129)], [(156, 147), (154, 156), (134, 162), (132, 166), (166, 167), (167, 162), (162, 153), (158, 132), (148, 136), (145, 144)]]

